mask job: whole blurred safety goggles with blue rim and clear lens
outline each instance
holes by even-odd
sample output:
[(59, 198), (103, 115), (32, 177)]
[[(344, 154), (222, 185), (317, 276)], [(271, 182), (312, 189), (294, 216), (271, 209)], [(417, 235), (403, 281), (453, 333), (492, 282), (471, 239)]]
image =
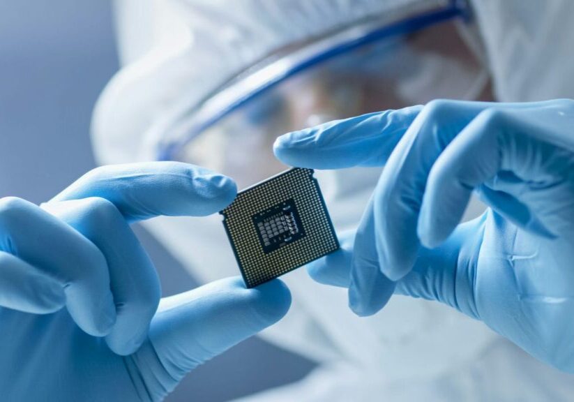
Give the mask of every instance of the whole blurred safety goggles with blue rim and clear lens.
[(283, 133), (434, 98), (488, 98), (466, 16), (459, 2), (419, 6), (276, 52), (183, 110), (158, 158), (211, 168), (244, 188), (287, 168), (273, 156)]

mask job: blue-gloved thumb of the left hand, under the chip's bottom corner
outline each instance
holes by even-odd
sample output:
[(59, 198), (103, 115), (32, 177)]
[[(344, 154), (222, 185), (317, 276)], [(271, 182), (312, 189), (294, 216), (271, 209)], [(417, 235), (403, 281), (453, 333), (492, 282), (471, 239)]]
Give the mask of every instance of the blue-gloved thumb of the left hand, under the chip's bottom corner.
[(162, 299), (149, 342), (132, 357), (146, 394), (163, 399), (193, 368), (273, 325), (290, 304), (281, 281), (246, 289), (241, 278)]

